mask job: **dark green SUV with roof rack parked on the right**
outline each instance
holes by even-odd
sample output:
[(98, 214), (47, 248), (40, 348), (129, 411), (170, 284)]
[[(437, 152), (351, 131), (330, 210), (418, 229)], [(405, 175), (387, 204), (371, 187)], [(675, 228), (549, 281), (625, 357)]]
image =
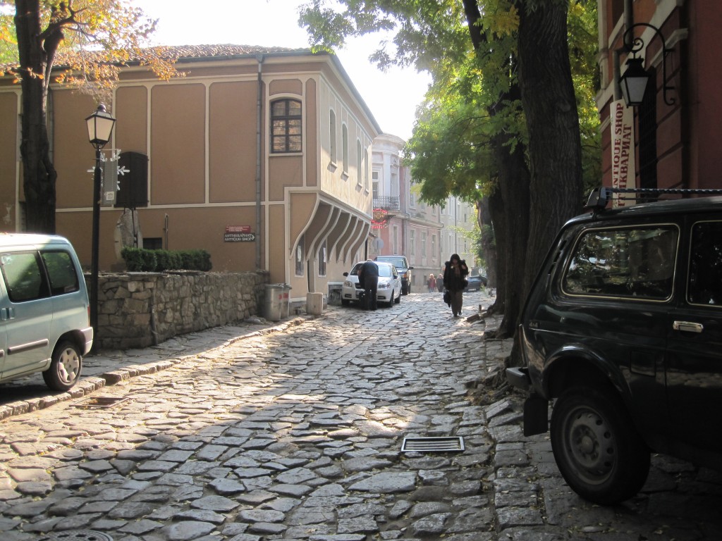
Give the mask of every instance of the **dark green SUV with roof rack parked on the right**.
[(607, 209), (612, 191), (630, 190), (596, 191), (558, 234), (507, 371), (529, 390), (524, 434), (550, 429), (567, 483), (601, 504), (642, 488), (651, 452), (722, 465), (722, 197)]

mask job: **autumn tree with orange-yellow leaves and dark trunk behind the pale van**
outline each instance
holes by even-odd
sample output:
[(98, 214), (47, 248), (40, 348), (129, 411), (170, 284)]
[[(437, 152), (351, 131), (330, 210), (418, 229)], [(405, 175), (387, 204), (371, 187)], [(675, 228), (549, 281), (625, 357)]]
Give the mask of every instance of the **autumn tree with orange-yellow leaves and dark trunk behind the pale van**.
[[(145, 48), (156, 22), (129, 0), (0, 0), (0, 74), (22, 88), (20, 153), (29, 231), (55, 231), (56, 170), (46, 109), (51, 84), (108, 96), (123, 64), (176, 75), (162, 48)], [(61, 67), (62, 69), (57, 69)]]

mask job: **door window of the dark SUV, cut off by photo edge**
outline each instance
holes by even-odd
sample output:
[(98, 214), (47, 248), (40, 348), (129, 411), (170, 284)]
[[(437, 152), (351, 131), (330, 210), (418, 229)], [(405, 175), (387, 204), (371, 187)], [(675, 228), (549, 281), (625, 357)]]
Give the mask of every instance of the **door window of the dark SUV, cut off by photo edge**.
[(687, 302), (722, 305), (722, 222), (702, 221), (692, 226), (690, 278)]

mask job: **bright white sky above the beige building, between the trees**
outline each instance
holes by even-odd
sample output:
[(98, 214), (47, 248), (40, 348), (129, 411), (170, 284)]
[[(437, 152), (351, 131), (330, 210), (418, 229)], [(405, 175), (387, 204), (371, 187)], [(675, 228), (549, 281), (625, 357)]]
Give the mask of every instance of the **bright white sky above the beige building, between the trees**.
[[(308, 48), (308, 36), (298, 26), (303, 0), (136, 0), (136, 5), (159, 19), (157, 45), (265, 45)], [(408, 140), (416, 107), (430, 83), (428, 74), (414, 69), (386, 73), (368, 61), (380, 42), (378, 35), (354, 40), (340, 50), (339, 60), (385, 133)]]

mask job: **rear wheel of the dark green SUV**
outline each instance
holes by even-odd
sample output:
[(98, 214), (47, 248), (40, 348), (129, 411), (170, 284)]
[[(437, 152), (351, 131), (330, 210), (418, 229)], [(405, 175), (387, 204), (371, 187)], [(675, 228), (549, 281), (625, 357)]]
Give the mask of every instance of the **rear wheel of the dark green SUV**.
[(611, 505), (631, 498), (649, 473), (650, 452), (613, 392), (572, 387), (552, 410), (552, 450), (583, 498)]

